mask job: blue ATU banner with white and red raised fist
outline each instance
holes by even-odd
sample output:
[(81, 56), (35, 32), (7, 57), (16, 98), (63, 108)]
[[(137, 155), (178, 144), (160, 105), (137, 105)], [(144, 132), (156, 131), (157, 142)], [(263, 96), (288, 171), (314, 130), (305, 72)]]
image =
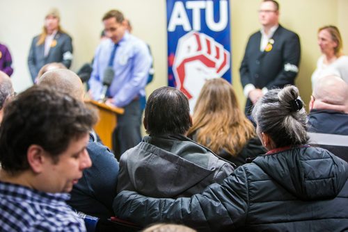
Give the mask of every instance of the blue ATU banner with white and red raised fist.
[(205, 80), (231, 82), (228, 0), (167, 0), (168, 85), (180, 89), (191, 111)]

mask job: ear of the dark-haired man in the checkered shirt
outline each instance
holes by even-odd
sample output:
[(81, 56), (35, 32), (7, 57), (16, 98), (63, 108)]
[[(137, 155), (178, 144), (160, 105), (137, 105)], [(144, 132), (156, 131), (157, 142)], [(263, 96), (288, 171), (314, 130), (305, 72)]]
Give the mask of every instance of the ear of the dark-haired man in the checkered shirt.
[(41, 146), (31, 144), (28, 150), (26, 151), (26, 158), (33, 172), (42, 172), (46, 157), (45, 150), (42, 149)]

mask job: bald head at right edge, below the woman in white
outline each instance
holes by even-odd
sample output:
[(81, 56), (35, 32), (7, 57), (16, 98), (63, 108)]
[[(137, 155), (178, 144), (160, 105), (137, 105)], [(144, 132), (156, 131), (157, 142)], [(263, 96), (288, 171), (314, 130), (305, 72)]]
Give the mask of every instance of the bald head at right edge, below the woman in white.
[(319, 78), (314, 86), (313, 97), (313, 108), (348, 113), (348, 84), (338, 76)]

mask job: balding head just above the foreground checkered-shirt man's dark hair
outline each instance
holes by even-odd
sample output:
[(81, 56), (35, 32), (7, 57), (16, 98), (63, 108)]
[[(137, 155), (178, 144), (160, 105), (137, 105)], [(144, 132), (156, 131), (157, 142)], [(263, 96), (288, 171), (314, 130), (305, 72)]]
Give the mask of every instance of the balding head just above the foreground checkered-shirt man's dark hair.
[(77, 74), (69, 69), (53, 69), (38, 79), (38, 85), (48, 85), (68, 92), (79, 101), (84, 101), (84, 85)]

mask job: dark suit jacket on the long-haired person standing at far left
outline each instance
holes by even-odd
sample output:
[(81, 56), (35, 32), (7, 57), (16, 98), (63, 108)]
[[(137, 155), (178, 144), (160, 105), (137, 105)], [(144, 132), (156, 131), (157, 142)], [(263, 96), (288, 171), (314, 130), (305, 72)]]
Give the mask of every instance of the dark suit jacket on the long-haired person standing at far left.
[(37, 45), (40, 35), (35, 36), (31, 42), (28, 57), (29, 71), (33, 81), (38, 76), (40, 68), (48, 63), (63, 63), (65, 67), (70, 67), (72, 62), (72, 38), (66, 34), (57, 32), (54, 36), (56, 44), (49, 49), (48, 55), (45, 57), (45, 42)]

